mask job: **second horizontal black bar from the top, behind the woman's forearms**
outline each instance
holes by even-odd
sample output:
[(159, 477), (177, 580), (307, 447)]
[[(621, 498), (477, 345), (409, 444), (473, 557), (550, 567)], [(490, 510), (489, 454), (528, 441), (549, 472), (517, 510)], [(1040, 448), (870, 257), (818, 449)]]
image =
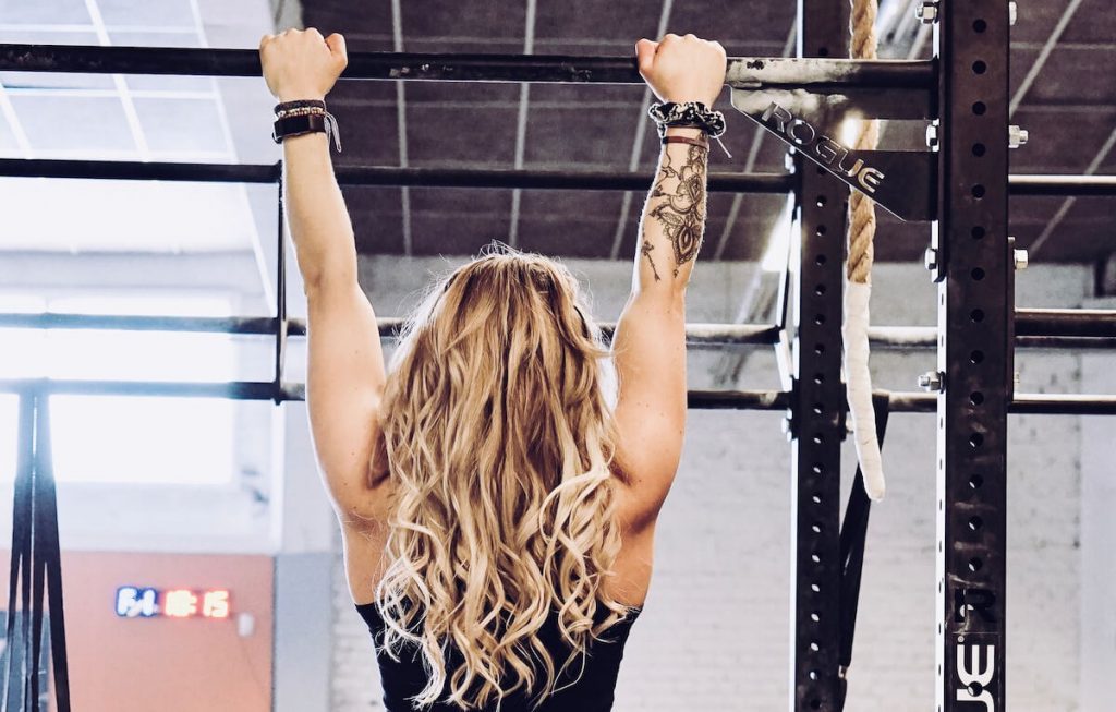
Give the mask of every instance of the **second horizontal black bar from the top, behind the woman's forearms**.
[[(0, 175), (16, 177), (109, 179), (118, 181), (204, 181), (277, 183), (280, 164), (144, 163), (140, 161), (59, 161), (0, 158)], [(646, 191), (650, 173), (591, 171), (512, 171), (500, 169), (400, 169), (338, 165), (340, 185), (411, 187), (522, 187), (528, 190)], [(790, 173), (712, 173), (714, 193), (789, 193)]]

